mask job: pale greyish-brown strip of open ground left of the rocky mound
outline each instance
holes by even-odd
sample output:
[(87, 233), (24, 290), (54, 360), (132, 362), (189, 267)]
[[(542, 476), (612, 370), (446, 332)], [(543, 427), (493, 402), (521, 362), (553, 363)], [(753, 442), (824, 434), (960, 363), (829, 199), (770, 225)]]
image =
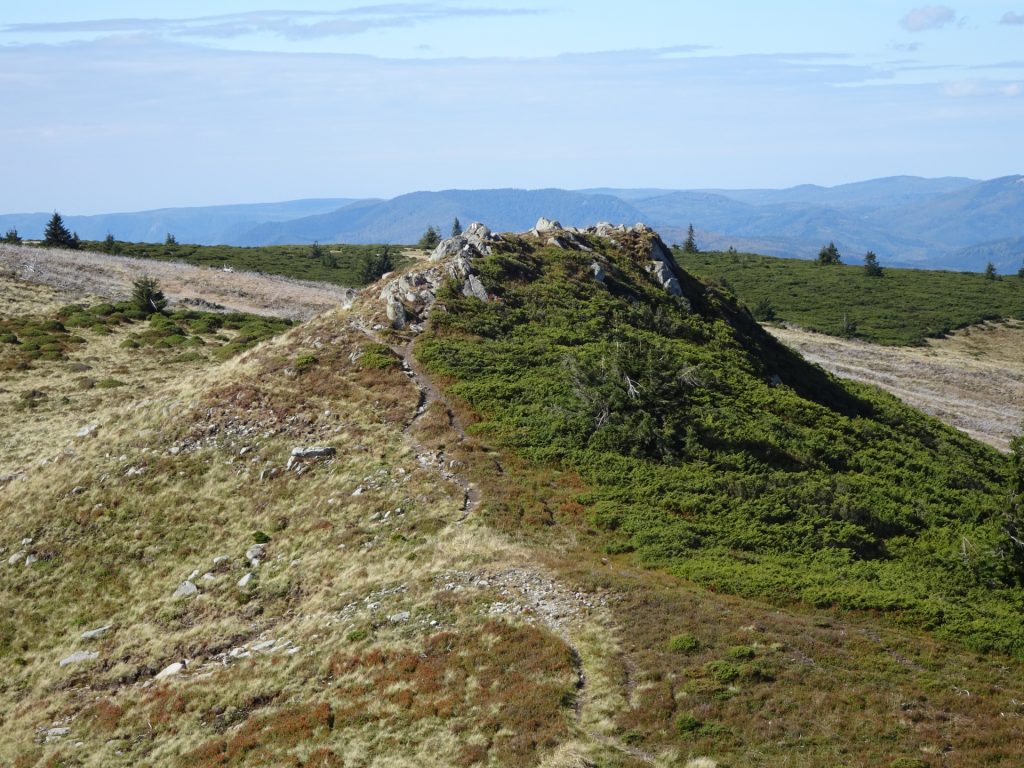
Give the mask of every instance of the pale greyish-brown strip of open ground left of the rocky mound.
[(0, 245), (0, 281), (49, 286), (65, 303), (86, 297), (128, 298), (132, 283), (143, 274), (159, 281), (172, 301), (200, 298), (237, 311), (300, 321), (339, 304), (350, 304), (354, 293), (327, 283), (258, 272), (88, 251)]

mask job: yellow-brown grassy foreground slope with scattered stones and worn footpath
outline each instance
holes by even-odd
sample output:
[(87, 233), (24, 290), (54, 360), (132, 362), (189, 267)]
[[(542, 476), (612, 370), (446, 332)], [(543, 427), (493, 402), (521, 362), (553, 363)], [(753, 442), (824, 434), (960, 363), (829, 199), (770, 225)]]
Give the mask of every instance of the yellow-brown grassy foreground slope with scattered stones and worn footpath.
[[(564, 285), (543, 287), (545, 309), (563, 301)], [(90, 413), (99, 429), (54, 430), (26, 476), (0, 485), (0, 764), (1024, 760), (1017, 662), (604, 554), (622, 540), (581, 504), (599, 483), (462, 439), (443, 403), (414, 419), (416, 387), (353, 315), (382, 319), (357, 303), (227, 362), (175, 368), (177, 350), (118, 346), (140, 378), (108, 390), (121, 398)], [(82, 335), (71, 360), (34, 362), (33, 386), (106, 351), (111, 337)], [(151, 366), (174, 376), (153, 385)], [(0, 420), (16, 439), (26, 420), (8, 406)], [(90, 407), (47, 408), (80, 426)], [(337, 454), (259, 479), (313, 443)], [(465, 520), (462, 489), (434, 469), (439, 450), (444, 473), (480, 489)], [(265, 538), (251, 569), (244, 553)], [(8, 565), (18, 550), (39, 560)], [(194, 569), (200, 595), (174, 600)], [(58, 666), (82, 649), (98, 656)], [(183, 673), (155, 680), (182, 657)]]

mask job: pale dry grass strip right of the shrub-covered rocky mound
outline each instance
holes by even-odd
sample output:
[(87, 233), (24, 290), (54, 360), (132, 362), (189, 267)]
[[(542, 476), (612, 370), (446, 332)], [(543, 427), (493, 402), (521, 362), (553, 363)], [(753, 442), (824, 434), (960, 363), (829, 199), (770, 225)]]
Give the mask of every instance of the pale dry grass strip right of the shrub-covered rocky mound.
[(873, 384), (1000, 451), (1024, 422), (1024, 324), (966, 329), (924, 347), (884, 347), (790, 328), (771, 333), (844, 379)]

